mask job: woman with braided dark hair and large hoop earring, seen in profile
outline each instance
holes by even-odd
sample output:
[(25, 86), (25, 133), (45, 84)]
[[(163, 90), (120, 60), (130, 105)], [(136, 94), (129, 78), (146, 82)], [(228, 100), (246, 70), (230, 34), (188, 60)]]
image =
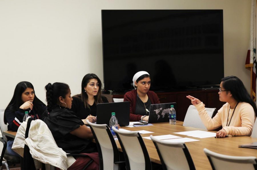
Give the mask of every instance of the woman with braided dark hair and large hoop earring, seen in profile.
[[(91, 142), (93, 134), (80, 118), (70, 110), (72, 106), (71, 90), (65, 83), (48, 83), (45, 86), (47, 110), (44, 122), (50, 129), (58, 147), (66, 153), (88, 154), (95, 162), (89, 169), (99, 169), (99, 158), (96, 144)], [(69, 169), (82, 169), (91, 159), (77, 157)]]

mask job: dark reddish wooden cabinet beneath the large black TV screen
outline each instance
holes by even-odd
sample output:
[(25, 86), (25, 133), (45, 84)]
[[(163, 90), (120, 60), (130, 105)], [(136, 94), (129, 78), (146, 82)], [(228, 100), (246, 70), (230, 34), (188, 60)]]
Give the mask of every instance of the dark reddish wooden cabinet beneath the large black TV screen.
[[(179, 121), (184, 121), (186, 111), (191, 104), (191, 101), (186, 96), (194, 96), (201, 100), (206, 108), (216, 108), (219, 110), (225, 102), (220, 102), (219, 90), (194, 90), (194, 91), (177, 91), (177, 92), (156, 92), (159, 97), (160, 103), (177, 103), (176, 117)], [(112, 102), (113, 98), (123, 98), (124, 94), (104, 94), (109, 102)]]

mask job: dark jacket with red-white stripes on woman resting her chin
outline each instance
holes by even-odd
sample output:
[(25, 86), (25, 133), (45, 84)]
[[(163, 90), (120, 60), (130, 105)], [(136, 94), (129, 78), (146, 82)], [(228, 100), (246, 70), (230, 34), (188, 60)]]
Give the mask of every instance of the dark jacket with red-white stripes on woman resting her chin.
[[(44, 104), (38, 104), (34, 105), (33, 109), (30, 111), (30, 109), (23, 110), (23, 109), (18, 109), (13, 111), (11, 108), (8, 108), (5, 110), (5, 118), (8, 123), (7, 129), (12, 130), (12, 131), (17, 131), (19, 126), (23, 122), (23, 118), (25, 116), (26, 111), (29, 112), (29, 116), (31, 116), (34, 119), (42, 119), (42, 114), (45, 112), (47, 107)], [(7, 141), (10, 139), (13, 139), (11, 137), (7, 137)]]

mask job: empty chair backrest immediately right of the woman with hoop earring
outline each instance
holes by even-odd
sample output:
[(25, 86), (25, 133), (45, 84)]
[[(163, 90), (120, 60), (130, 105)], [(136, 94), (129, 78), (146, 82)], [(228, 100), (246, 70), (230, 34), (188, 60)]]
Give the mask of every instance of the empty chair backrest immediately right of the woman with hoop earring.
[(97, 144), (100, 169), (119, 169), (119, 151), (107, 124), (93, 124), (87, 120)]

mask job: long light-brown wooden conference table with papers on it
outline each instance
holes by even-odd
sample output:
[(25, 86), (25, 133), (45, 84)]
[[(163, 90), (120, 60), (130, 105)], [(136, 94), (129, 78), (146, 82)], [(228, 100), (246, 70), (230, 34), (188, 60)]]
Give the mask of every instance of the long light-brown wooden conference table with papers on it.
[[(238, 145), (240, 144), (256, 142), (257, 138), (252, 138), (249, 136), (234, 136), (234, 137), (229, 136), (226, 138), (214, 138), (214, 137), (197, 138), (197, 137), (189, 137), (186, 135), (180, 135), (180, 134), (174, 133), (174, 132), (182, 132), (182, 131), (204, 130), (199, 128), (185, 127), (182, 125), (183, 125), (183, 122), (177, 121), (176, 125), (171, 125), (169, 124), (169, 122), (163, 122), (163, 123), (155, 123), (153, 124), (153, 126), (142, 126), (142, 127), (134, 127), (134, 128), (121, 127), (121, 128), (131, 130), (131, 131), (146, 130), (146, 131), (154, 132), (154, 133), (141, 134), (142, 137), (147, 137), (150, 135), (156, 136), (156, 135), (171, 134), (171, 135), (188, 137), (188, 138), (199, 140), (199, 141), (186, 142), (186, 146), (190, 152), (190, 155), (194, 161), (194, 165), (197, 170), (212, 169), (209, 163), (209, 160), (203, 151), (204, 148), (207, 148), (216, 153), (221, 153), (225, 155), (257, 157), (256, 149), (238, 147)], [(207, 131), (207, 130), (204, 130), (204, 131)], [(210, 132), (216, 132), (216, 131), (210, 131)], [(3, 131), (3, 134), (10, 137), (15, 137), (16, 132)], [(144, 139), (144, 138), (143, 140), (146, 145), (151, 161), (154, 163), (161, 164), (160, 158), (158, 156), (158, 153), (154, 147), (152, 140)], [(122, 151), (118, 140), (116, 140), (116, 143), (119, 151)]]

